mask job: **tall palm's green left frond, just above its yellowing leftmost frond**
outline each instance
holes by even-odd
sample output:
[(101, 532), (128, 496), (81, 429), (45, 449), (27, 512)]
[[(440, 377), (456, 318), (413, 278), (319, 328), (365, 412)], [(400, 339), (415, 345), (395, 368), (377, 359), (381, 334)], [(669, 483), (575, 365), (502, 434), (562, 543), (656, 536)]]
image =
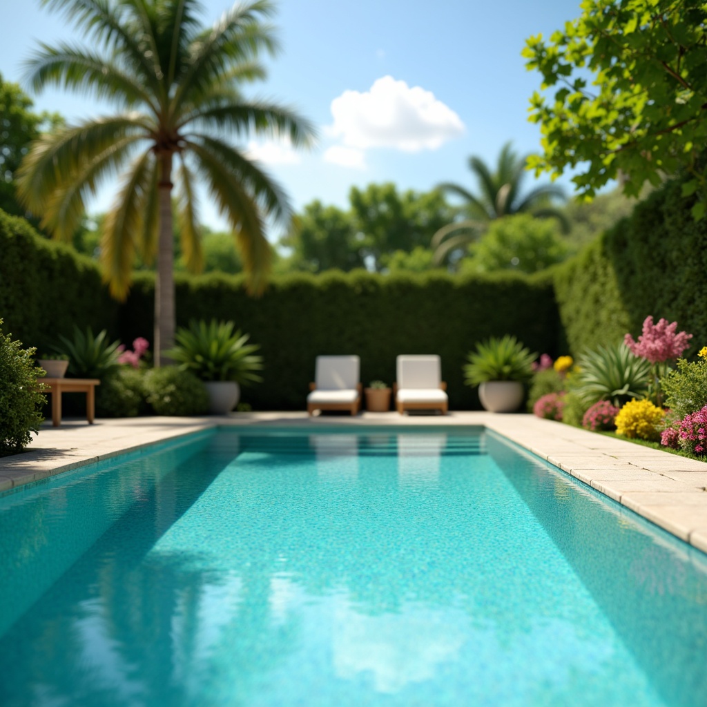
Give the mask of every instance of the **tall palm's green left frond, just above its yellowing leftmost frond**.
[(128, 106), (146, 103), (156, 110), (151, 95), (134, 76), (110, 59), (68, 43), (57, 47), (40, 44), (25, 62), (25, 78), (37, 92), (46, 86), (63, 86), (96, 98), (118, 99)]

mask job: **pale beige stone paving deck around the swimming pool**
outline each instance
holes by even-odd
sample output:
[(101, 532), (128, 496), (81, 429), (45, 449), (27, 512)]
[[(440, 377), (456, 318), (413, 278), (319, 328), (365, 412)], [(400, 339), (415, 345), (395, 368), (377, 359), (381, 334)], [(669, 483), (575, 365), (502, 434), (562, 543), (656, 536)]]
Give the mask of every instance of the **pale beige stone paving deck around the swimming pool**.
[(530, 450), (584, 484), (606, 494), (685, 542), (707, 552), (707, 463), (685, 459), (532, 415), (452, 412), (448, 416), (399, 416), (395, 412), (349, 416), (305, 413), (234, 413), (227, 417), (147, 417), (51, 422), (22, 454), (0, 457), (0, 491), (44, 479), (216, 426), (485, 426)]

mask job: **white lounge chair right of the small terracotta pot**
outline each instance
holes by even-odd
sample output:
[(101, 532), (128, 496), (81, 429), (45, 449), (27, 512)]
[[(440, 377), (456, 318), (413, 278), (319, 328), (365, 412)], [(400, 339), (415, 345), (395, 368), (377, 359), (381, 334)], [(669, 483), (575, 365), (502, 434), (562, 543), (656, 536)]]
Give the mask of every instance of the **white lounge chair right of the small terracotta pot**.
[(405, 410), (440, 410), (447, 414), (449, 398), (447, 384), (440, 380), (439, 356), (398, 356), (395, 407), (402, 415)]

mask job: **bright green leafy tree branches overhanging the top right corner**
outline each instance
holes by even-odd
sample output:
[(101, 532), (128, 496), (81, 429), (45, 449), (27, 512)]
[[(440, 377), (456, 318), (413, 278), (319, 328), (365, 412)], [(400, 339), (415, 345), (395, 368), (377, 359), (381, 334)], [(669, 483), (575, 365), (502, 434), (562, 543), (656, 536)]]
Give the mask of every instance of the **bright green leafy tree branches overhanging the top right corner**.
[[(539, 123), (543, 153), (536, 174), (577, 170), (573, 182), (592, 197), (624, 175), (624, 192), (638, 196), (679, 168), (699, 191), (693, 216), (707, 201), (707, 6), (698, 0), (588, 0), (583, 13), (549, 42), (527, 40), (528, 69), (542, 74), (530, 120)], [(591, 86), (588, 70), (594, 75)]]

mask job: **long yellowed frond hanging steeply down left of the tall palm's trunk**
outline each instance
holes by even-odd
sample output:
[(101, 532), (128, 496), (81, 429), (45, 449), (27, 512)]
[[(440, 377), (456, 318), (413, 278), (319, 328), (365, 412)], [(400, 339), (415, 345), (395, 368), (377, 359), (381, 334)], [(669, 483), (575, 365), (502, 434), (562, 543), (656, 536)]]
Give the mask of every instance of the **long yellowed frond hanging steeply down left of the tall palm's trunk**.
[(144, 232), (145, 205), (155, 171), (151, 152), (141, 155), (132, 165), (112, 209), (105, 216), (100, 260), (103, 278), (110, 293), (118, 299), (127, 295), (136, 253), (136, 234)]

